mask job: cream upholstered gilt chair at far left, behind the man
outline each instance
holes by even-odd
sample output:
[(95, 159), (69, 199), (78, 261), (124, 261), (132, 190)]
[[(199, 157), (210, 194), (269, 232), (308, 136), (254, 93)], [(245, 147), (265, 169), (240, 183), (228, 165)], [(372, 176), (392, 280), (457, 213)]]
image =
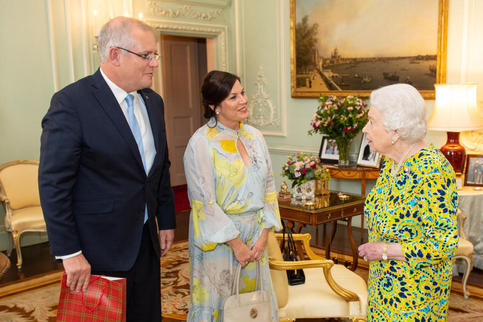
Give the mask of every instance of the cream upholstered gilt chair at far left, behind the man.
[(0, 202), (5, 208), (5, 230), (11, 233), (17, 251), (17, 267), (22, 268), (20, 236), (27, 231), (47, 231), (40, 208), (38, 161), (19, 160), (0, 166)]

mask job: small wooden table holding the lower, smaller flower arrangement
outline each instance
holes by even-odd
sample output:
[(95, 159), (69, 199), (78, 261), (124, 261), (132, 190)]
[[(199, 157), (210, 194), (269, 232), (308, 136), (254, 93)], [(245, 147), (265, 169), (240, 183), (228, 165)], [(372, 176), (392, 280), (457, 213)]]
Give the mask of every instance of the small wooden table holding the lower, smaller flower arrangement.
[[(347, 235), (349, 236), (353, 258), (350, 269), (354, 271), (357, 268), (358, 253), (352, 235), (351, 220), (353, 216), (364, 212), (365, 198), (361, 195), (344, 192), (343, 194), (348, 196), (348, 199), (342, 200), (338, 194), (339, 191), (331, 191), (330, 195), (317, 195), (314, 199), (302, 201), (292, 197), (291, 202), (279, 202), (280, 218), (288, 220), (293, 227), (295, 227), (295, 222), (298, 222), (296, 233), (301, 233), (302, 228), (306, 225), (317, 226), (332, 222), (332, 232), (326, 246), (327, 259), (331, 258), (331, 244), (337, 230), (337, 222), (339, 220), (347, 222)], [(313, 205), (306, 205), (307, 202), (313, 202)], [(297, 245), (297, 253), (303, 254), (299, 244)]]

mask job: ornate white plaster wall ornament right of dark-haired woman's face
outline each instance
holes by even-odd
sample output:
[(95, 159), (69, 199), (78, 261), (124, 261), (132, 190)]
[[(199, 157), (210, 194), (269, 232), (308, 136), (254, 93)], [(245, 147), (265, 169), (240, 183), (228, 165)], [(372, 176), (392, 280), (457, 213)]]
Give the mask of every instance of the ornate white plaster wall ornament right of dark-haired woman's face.
[(252, 95), (248, 110), (250, 112), (249, 122), (256, 126), (280, 125), (280, 119), (276, 116), (277, 109), (273, 106), (270, 96), (265, 93), (263, 86), (266, 84), (263, 67), (258, 70), (256, 94)]

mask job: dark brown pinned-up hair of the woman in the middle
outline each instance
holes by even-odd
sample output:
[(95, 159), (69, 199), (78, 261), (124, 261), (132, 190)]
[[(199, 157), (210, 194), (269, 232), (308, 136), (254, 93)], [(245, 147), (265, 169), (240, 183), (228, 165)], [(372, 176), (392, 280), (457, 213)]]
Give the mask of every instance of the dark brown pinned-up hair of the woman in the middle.
[(216, 113), (210, 105), (216, 107), (221, 104), (230, 94), (236, 81), (240, 82), (240, 78), (226, 71), (212, 70), (206, 74), (201, 87), (203, 116), (206, 119), (216, 118)]

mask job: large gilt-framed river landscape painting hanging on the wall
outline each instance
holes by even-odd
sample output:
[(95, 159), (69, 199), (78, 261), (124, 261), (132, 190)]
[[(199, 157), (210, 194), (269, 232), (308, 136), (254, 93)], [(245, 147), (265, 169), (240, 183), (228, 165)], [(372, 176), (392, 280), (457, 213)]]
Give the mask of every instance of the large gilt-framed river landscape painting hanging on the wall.
[[(376, 5), (380, 1), (381, 0), (359, 0), (359, 4), (361, 4), (361, 7), (374, 4), (374, 8), (378, 8)], [(410, 49), (408, 49), (409, 47), (413, 48), (413, 52), (418, 50), (414, 48), (421, 47), (419, 44), (416, 45), (419, 39), (417, 35), (423, 34), (423, 32), (410, 33), (408, 31), (409, 35), (405, 37), (401, 35), (400, 40), (397, 39), (395, 42), (396, 45), (386, 45), (387, 48), (390, 48), (387, 50), (396, 52), (396, 54), (393, 54), (392, 56), (389, 54), (387, 54), (387, 56), (381, 55), (381, 53), (383, 53), (383, 49), (381, 49), (378, 54), (376, 48), (374, 48), (374, 51), (371, 53), (369, 49), (375, 47), (376, 42), (368, 41), (366, 44), (360, 44), (360, 46), (357, 47), (359, 50), (363, 51), (366, 51), (364, 46), (369, 48), (365, 53), (367, 55), (366, 57), (364, 57), (364, 53), (362, 51), (359, 53), (357, 51), (358, 49), (354, 49), (351, 51), (351, 54), (349, 54), (347, 57), (344, 57), (343, 53), (338, 52), (337, 46), (334, 47), (333, 52), (328, 54), (328, 45), (324, 45), (325, 47), (323, 47), (325, 48), (325, 55), (320, 55), (318, 49), (320, 35), (318, 37), (316, 36), (320, 30), (317, 29), (317, 27), (319, 23), (323, 25), (325, 24), (327, 27), (323, 29), (324, 35), (329, 35), (324, 36), (324, 44), (354, 43), (354, 39), (351, 39), (350, 23), (355, 20), (354, 13), (356, 13), (357, 10), (353, 8), (353, 10), (345, 11), (345, 7), (343, 6), (347, 6), (348, 3), (354, 6), (357, 5), (358, 2), (340, 2), (337, 0), (290, 0), (290, 88), (292, 98), (318, 98), (320, 94), (337, 96), (358, 95), (362, 98), (368, 98), (372, 90), (381, 86), (395, 83), (408, 83), (416, 87), (423, 98), (434, 99), (435, 91), (433, 84), (446, 82), (446, 48), (449, 0), (433, 1), (435, 4), (419, 2), (417, 0), (393, 0), (389, 3), (385, 2), (384, 4), (392, 6), (394, 9), (394, 15), (401, 15), (400, 18), (391, 18), (394, 24), (396, 22), (403, 21), (398, 29), (401, 30), (401, 34), (406, 29), (409, 29), (409, 27), (411, 27), (411, 30), (415, 30), (415, 28), (416, 30), (421, 31), (428, 30), (428, 21), (437, 20), (437, 28), (434, 27), (432, 28), (432, 31), (428, 31), (428, 33), (424, 34), (424, 37), (436, 39), (436, 41), (434, 41), (434, 43), (436, 43), (434, 52), (432, 49), (429, 50), (431, 52), (428, 52), (428, 50), (423, 52), (421, 49), (420, 54), (410, 54)], [(311, 8), (308, 6), (317, 6), (319, 10), (310, 10)], [(420, 10), (418, 6), (422, 6), (424, 8), (421, 8)], [(416, 22), (414, 19), (407, 19), (407, 17), (404, 16), (408, 13), (408, 11), (406, 11), (408, 8), (410, 8), (412, 12), (415, 12), (415, 15), (419, 15), (417, 16), (418, 19)], [(435, 11), (435, 16), (433, 16), (433, 8)], [(323, 9), (327, 9), (326, 12), (330, 14), (321, 15), (320, 13), (324, 13)], [(308, 14), (304, 15), (303, 17), (299, 17), (297, 16), (297, 10), (300, 11), (299, 15), (306, 13)], [(339, 14), (333, 14), (334, 12)], [(304, 24), (302, 20), (305, 18), (305, 16), (307, 16), (308, 19)], [(334, 23), (325, 23), (325, 21), (332, 16), (337, 16), (337, 19), (334, 19)], [(377, 12), (374, 13), (373, 16), (370, 16), (369, 14), (363, 15), (361, 19), (365, 18), (367, 20), (368, 16), (370, 17), (370, 23), (368, 23), (366, 26), (370, 25), (371, 28), (376, 28), (376, 30), (382, 30), (382, 33), (386, 33), (385, 30), (387, 29), (387, 24), (382, 25), (380, 22), (381, 17), (377, 16)], [(434, 18), (429, 19), (427, 17)], [(405, 19), (407, 19), (406, 22)], [(313, 21), (315, 22), (311, 23)], [(415, 23), (417, 24), (418, 22), (421, 23), (421, 26), (414, 26)], [(378, 23), (381, 23), (381, 25), (377, 25)], [(408, 28), (405, 28), (405, 23), (407, 24)], [(317, 24), (315, 29), (318, 31), (315, 33), (315, 36), (310, 38), (310, 35), (313, 35), (313, 33), (310, 34), (310, 30), (313, 30), (315, 24)], [(348, 35), (347, 38), (340, 36), (344, 34), (343, 32), (339, 32), (343, 27), (346, 28), (345, 35)], [(307, 41), (297, 42), (297, 32), (304, 34), (304, 37), (300, 37), (301, 39), (312, 39), (312, 47), (306, 44)], [(308, 32), (308, 34), (306, 32)], [(399, 37), (399, 34), (396, 36), (387, 35), (387, 37), (394, 39)], [(360, 40), (360, 37), (358, 39)], [(405, 42), (405, 39), (408, 41)], [(427, 42), (423, 41), (423, 43)], [(431, 44), (430, 48), (433, 48), (432, 45), (433, 44)], [(344, 45), (342, 45), (342, 47), (344, 47)], [(311, 49), (309, 50), (307, 48)], [(351, 48), (356, 48), (356, 46), (354, 45)], [(397, 52), (399, 48), (400, 51)], [(299, 52), (300, 57), (297, 57), (297, 52)], [(309, 52), (309, 54), (302, 55), (300, 52)], [(399, 53), (399, 55), (397, 55), (397, 53)], [(299, 59), (298, 65), (297, 58)]]

